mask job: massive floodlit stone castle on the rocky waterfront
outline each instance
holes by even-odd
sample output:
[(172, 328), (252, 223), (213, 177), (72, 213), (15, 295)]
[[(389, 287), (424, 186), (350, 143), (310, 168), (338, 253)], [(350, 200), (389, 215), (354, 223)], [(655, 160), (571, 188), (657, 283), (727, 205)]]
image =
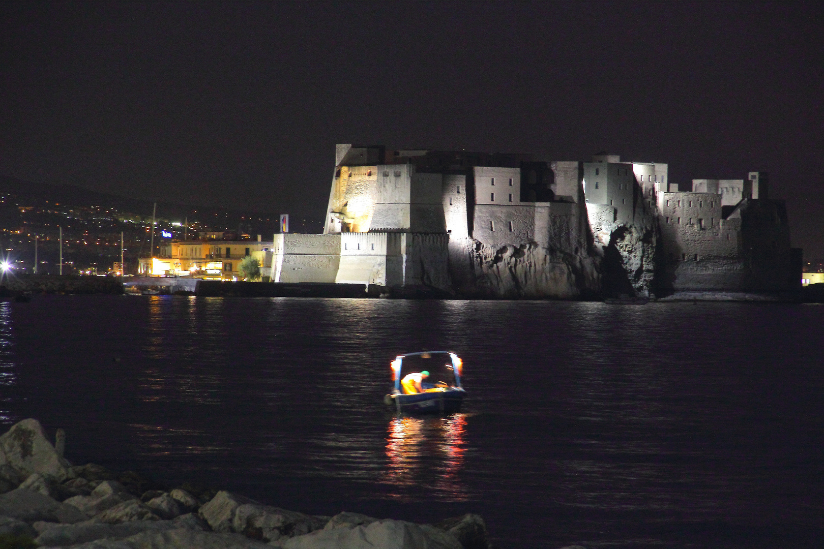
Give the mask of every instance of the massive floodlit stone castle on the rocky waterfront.
[(784, 202), (767, 177), (667, 165), (338, 145), (323, 235), (276, 235), (273, 281), (576, 298), (792, 291)]

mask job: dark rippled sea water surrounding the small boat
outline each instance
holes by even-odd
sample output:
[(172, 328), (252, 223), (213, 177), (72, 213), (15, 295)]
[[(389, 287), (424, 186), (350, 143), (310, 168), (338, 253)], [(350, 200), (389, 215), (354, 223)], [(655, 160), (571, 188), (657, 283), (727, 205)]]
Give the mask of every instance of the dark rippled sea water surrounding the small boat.
[[(0, 303), (0, 421), (74, 463), (312, 514), (481, 514), (502, 549), (814, 547), (824, 307), (36, 295)], [(464, 360), (396, 417), (390, 361)]]

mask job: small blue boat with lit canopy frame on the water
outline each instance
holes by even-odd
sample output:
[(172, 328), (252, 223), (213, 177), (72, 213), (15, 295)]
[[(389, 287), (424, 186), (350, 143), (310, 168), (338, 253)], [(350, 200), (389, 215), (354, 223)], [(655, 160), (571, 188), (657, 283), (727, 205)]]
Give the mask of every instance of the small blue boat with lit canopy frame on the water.
[[(383, 398), (398, 413), (452, 414), (461, 411), (464, 391), (461, 385), (463, 361), (450, 351), (424, 351), (398, 355), (391, 363), (392, 392)], [(428, 372), (418, 392), (404, 379), (410, 374)]]

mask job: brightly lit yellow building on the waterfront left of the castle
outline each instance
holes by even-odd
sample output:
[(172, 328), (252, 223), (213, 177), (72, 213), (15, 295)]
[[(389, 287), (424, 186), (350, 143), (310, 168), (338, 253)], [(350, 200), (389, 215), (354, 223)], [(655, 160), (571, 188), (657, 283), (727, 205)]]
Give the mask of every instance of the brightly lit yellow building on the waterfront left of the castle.
[(159, 257), (140, 258), (138, 274), (152, 277), (196, 277), (241, 280), (240, 265), (251, 256), (262, 277), (270, 276), (272, 243), (260, 240), (172, 240), (161, 244)]

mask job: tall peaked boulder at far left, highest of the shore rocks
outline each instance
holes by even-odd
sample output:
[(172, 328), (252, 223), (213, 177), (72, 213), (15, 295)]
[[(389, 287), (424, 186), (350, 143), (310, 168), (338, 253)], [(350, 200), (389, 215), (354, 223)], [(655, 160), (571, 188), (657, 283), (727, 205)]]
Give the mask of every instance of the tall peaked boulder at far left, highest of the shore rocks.
[(26, 476), (39, 472), (57, 481), (71, 476), (68, 462), (57, 454), (35, 419), (19, 421), (0, 436), (0, 464), (10, 465)]

